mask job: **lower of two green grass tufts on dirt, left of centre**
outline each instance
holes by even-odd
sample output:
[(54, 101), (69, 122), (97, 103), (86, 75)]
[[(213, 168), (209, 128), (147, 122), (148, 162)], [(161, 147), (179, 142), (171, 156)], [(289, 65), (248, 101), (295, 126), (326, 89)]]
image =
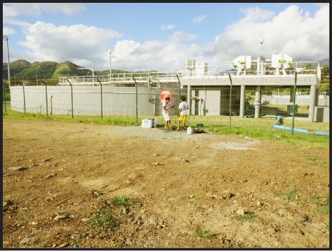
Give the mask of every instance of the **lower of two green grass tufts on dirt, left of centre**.
[(114, 230), (117, 228), (117, 222), (111, 209), (101, 209), (99, 212), (91, 213), (88, 223), (90, 225), (89, 229), (102, 227), (103, 229)]

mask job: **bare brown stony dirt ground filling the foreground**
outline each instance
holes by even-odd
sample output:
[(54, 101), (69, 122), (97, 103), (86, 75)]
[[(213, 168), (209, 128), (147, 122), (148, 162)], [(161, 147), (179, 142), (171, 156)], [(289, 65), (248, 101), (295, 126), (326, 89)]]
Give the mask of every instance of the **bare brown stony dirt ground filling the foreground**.
[(4, 119), (3, 247), (329, 247), (328, 163), (283, 139)]

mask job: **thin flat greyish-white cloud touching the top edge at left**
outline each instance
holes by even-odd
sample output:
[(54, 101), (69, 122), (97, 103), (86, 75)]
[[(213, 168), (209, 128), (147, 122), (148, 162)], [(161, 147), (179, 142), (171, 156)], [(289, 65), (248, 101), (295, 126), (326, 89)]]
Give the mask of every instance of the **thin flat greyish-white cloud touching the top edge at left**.
[(35, 14), (35, 16), (39, 16), (41, 11), (61, 11), (66, 15), (86, 11), (85, 5), (80, 3), (8, 3), (8, 5), (20, 14)]

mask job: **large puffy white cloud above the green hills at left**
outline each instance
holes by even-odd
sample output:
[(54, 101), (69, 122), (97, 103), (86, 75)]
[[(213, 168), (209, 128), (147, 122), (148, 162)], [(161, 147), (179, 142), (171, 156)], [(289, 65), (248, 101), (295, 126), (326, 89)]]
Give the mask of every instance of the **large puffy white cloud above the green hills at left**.
[(26, 40), (18, 43), (30, 50), (23, 55), (29, 62), (64, 62), (71, 58), (76, 62), (86, 60), (84, 62), (87, 65), (83, 66), (96, 69), (102, 67), (103, 53), (109, 40), (121, 37), (120, 33), (110, 29), (85, 25), (57, 27), (52, 23), (43, 22), (30, 25), (23, 31)]

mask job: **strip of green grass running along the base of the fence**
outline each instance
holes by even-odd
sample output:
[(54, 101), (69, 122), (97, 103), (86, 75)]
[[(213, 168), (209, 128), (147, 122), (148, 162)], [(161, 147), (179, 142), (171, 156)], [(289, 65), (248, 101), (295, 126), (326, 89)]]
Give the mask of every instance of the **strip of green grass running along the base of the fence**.
[[(150, 116), (154, 117), (154, 116)], [(161, 123), (162, 117), (158, 117), (158, 122)], [(159, 119), (160, 117), (160, 119)], [(11, 110), (10, 103), (6, 104), (6, 112), (4, 112), (3, 106), (3, 119), (42, 119), (51, 120), (58, 122), (82, 122), (88, 124), (112, 124), (118, 126), (133, 126), (135, 124), (141, 124), (141, 120), (145, 119), (146, 116), (138, 116), (136, 120), (135, 115), (108, 115), (103, 116), (101, 119), (100, 115), (96, 116), (83, 116), (74, 115), (44, 115), (40, 113), (31, 112), (16, 112)], [(177, 115), (172, 115), (171, 120), (177, 121)], [(137, 122), (136, 122), (137, 121)], [(284, 127), (292, 127), (291, 119), (283, 119)], [(329, 148), (329, 137), (318, 136), (314, 134), (303, 134), (300, 132), (286, 131), (283, 129), (275, 129), (272, 127), (275, 122), (275, 118), (241, 118), (238, 116), (198, 116), (190, 115), (187, 117), (186, 126), (196, 127), (196, 124), (204, 124), (202, 128), (205, 131), (211, 132), (212, 134), (218, 135), (237, 135), (240, 137), (249, 136), (251, 139), (260, 139), (268, 141), (283, 141), (289, 144), (297, 146), (297, 148), (307, 147), (311, 148)], [(231, 127), (230, 127), (231, 125)], [(294, 127), (296, 129), (307, 129), (309, 131), (316, 132), (329, 132), (329, 123), (325, 122), (307, 122), (302, 120), (295, 120)], [(275, 134), (278, 134), (281, 139), (278, 139)]]

